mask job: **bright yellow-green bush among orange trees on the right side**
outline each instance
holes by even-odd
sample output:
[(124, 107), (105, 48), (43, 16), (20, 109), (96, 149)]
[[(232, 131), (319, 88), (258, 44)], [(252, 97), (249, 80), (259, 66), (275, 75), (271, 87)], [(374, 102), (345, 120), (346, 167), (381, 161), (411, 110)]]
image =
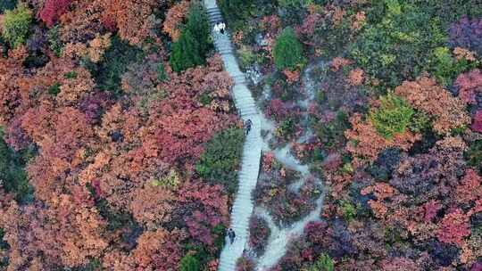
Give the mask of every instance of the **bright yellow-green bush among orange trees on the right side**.
[(380, 136), (392, 138), (402, 134), (411, 123), (415, 111), (402, 98), (387, 94), (380, 98), (380, 107), (370, 112), (370, 120)]

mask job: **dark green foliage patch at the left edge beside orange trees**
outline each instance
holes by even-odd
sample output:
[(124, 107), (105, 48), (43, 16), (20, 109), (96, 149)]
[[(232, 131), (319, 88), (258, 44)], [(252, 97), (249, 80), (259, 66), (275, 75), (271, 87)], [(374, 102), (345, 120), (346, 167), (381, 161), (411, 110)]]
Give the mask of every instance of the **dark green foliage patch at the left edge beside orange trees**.
[(0, 180), (6, 192), (13, 193), (19, 203), (28, 203), (33, 199), (33, 187), (29, 185), (24, 168), (29, 160), (28, 150), (14, 152), (4, 142), (4, 132), (0, 128)]

